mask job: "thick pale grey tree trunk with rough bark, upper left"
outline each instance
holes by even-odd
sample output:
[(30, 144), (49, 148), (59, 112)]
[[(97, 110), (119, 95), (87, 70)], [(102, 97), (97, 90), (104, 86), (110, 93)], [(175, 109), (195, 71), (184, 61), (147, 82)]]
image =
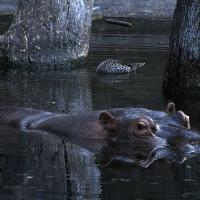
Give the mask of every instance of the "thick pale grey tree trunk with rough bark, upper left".
[[(1, 0), (0, 0), (1, 1)], [(0, 65), (68, 64), (89, 49), (93, 0), (3, 0)]]

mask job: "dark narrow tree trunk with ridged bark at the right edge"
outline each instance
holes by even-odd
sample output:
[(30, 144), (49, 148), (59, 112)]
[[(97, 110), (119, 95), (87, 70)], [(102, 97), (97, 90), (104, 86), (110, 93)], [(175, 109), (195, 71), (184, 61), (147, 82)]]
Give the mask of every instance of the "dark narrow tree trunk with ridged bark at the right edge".
[(177, 0), (170, 55), (163, 79), (167, 99), (199, 94), (200, 91), (200, 1)]

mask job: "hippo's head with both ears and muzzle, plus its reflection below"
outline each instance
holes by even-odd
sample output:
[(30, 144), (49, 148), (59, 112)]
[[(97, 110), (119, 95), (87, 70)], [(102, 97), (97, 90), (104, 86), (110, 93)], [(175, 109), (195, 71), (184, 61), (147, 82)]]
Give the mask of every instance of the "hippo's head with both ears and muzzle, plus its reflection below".
[(128, 117), (110, 112), (99, 115), (100, 124), (108, 132), (109, 147), (104, 149), (104, 155), (110, 155), (109, 162), (148, 167), (158, 159), (181, 163), (193, 155), (192, 141), (200, 137), (190, 129), (189, 117), (182, 111), (168, 105), (167, 112), (133, 110), (130, 113)]

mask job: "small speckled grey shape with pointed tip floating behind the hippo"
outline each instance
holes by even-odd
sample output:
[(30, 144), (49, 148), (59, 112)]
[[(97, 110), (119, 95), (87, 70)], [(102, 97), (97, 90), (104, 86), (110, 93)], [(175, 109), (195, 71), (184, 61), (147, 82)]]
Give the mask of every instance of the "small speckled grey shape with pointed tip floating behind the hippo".
[(134, 73), (137, 68), (142, 67), (143, 65), (145, 65), (145, 63), (127, 64), (117, 59), (106, 59), (98, 65), (96, 72), (98, 74)]

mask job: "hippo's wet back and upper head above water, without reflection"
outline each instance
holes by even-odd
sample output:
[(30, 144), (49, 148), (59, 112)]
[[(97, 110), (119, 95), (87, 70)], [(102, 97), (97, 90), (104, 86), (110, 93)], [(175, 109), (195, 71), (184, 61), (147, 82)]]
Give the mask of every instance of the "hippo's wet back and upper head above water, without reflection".
[(23, 131), (34, 129), (68, 137), (129, 142), (138, 138), (165, 138), (177, 129), (182, 130), (179, 132), (192, 132), (189, 131), (187, 115), (182, 111), (176, 112), (169, 105), (167, 109), (167, 112), (161, 112), (145, 108), (119, 108), (68, 116), (31, 108), (1, 107), (0, 123), (19, 127)]

